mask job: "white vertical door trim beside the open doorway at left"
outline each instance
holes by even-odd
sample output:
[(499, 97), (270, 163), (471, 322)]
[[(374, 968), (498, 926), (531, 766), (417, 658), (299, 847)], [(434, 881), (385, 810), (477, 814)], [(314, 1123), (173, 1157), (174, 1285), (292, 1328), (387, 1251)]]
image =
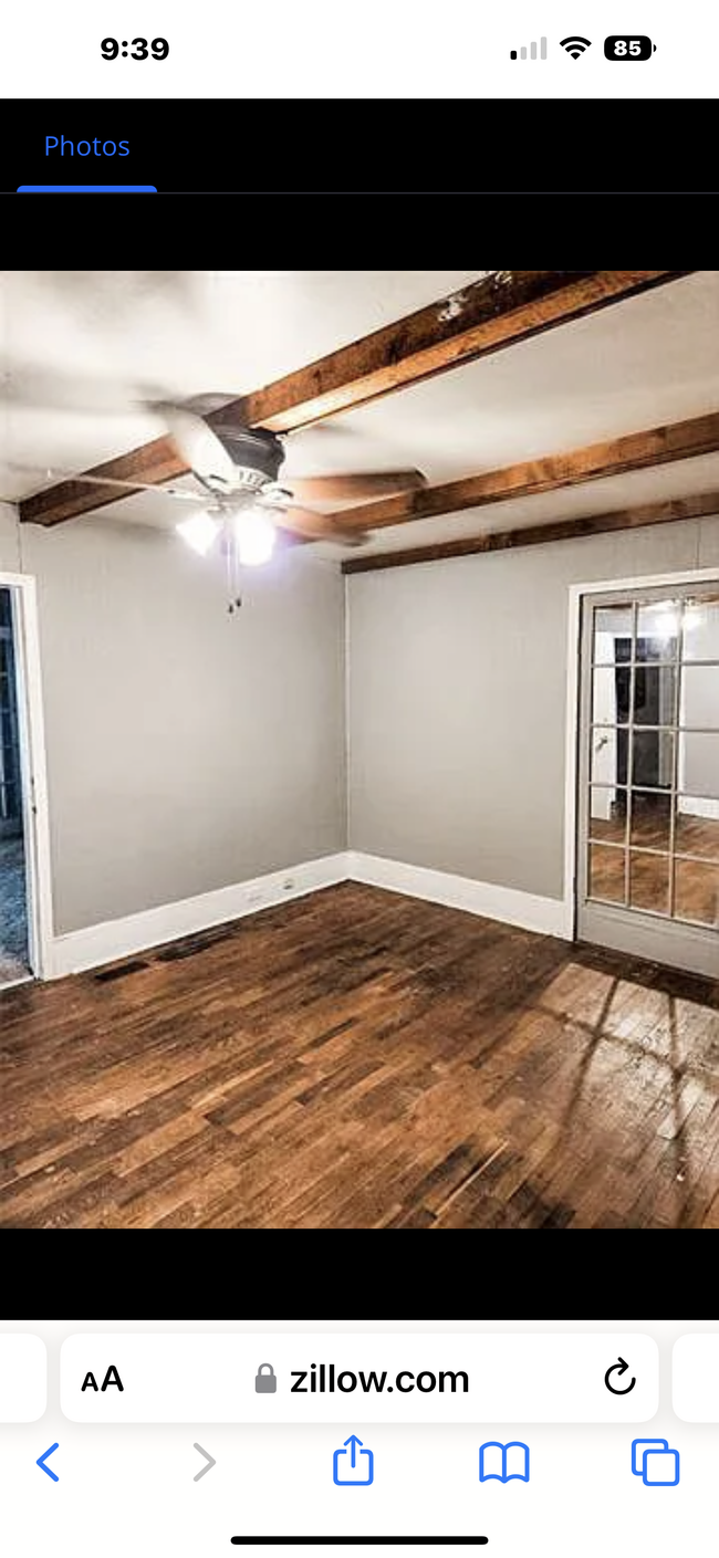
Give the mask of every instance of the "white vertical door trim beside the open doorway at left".
[(37, 592), (34, 578), (27, 573), (0, 573), (0, 589), (12, 590), (16, 622), (14, 647), (28, 901), (28, 963), (37, 978), (50, 978), (53, 890)]

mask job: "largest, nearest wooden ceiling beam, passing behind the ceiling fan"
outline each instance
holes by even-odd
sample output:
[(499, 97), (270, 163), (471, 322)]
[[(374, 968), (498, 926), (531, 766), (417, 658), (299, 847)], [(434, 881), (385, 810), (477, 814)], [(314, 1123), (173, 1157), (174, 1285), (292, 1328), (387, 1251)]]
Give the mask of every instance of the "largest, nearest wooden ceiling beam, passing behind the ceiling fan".
[[(229, 419), (245, 427), (268, 427), (287, 433), (686, 274), (689, 273), (491, 271), (469, 287), (232, 400), (229, 407), (211, 413), (209, 422), (221, 418), (223, 424)], [(158, 438), (83, 475), (162, 483), (173, 481), (187, 471), (173, 441)], [(23, 499), (19, 509), (23, 522), (59, 525), (76, 514), (117, 502), (120, 495), (108, 495), (108, 488), (70, 480)], [(331, 531), (332, 527), (328, 525), (328, 534)]]

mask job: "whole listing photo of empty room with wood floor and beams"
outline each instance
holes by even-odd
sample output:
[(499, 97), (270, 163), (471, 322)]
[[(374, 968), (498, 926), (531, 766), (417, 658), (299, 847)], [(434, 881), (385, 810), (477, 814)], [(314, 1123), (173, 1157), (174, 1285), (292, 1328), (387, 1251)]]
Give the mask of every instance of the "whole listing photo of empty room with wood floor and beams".
[(0, 1228), (719, 1228), (717, 338), (0, 274)]

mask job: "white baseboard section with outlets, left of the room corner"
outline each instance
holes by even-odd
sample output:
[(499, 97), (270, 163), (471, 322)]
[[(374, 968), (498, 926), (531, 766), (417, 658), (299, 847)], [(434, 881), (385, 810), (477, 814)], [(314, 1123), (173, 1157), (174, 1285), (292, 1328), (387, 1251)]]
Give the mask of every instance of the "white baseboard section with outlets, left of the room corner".
[(48, 977), (80, 974), (83, 969), (145, 952), (147, 947), (158, 947), (164, 941), (192, 936), (212, 925), (221, 925), (226, 919), (242, 919), (273, 904), (284, 904), (306, 893), (317, 893), (321, 887), (345, 882), (346, 876), (345, 852), (323, 855), (320, 860), (287, 866), (285, 871), (273, 871), (250, 882), (186, 897), (178, 904), (162, 904), (159, 908), (128, 915), (125, 919), (109, 919), (100, 925), (87, 925), (86, 930), (72, 930), (55, 938)]

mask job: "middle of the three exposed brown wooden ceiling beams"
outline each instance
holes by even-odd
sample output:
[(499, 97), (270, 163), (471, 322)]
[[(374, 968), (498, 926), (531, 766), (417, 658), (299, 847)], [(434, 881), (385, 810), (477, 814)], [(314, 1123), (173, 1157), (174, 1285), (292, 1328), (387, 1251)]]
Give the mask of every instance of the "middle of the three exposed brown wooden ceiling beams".
[[(401, 492), (398, 497), (382, 499), (379, 503), (362, 503), (343, 516), (343, 530), (381, 530), (413, 519), (457, 514), (465, 508), (502, 503), (510, 497), (554, 492), (558, 488), (577, 486), (580, 481), (615, 477), (624, 471), (643, 471), (646, 466), (661, 466), (671, 460), (711, 455), (717, 449), (719, 411), (711, 411), (708, 416), (694, 416), (688, 422), (649, 427), (644, 433), (627, 433), (624, 438), (613, 438), (604, 444), (588, 444), (585, 449), (572, 449), (565, 455), (522, 460), (521, 464), (504, 466), (501, 471), (485, 471), (479, 477), (465, 477), (462, 481), (445, 481), (441, 486)], [(338, 517), (338, 514), (331, 516), (335, 523)]]

